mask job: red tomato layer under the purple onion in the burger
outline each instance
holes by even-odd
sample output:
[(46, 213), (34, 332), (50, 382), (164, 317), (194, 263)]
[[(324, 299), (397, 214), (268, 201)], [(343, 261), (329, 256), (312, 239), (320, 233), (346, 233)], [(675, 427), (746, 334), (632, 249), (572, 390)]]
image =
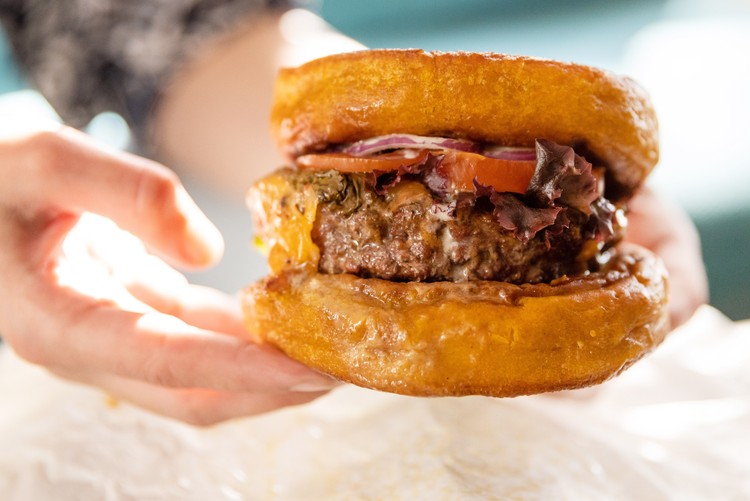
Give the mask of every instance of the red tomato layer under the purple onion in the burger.
[(297, 158), (297, 165), (308, 170), (340, 172), (390, 172), (421, 164), (428, 155), (442, 155), (437, 171), (455, 192), (474, 191), (477, 183), (498, 192), (526, 193), (536, 170), (535, 160), (504, 160), (458, 150), (398, 150), (391, 153), (357, 157), (346, 153), (317, 153)]

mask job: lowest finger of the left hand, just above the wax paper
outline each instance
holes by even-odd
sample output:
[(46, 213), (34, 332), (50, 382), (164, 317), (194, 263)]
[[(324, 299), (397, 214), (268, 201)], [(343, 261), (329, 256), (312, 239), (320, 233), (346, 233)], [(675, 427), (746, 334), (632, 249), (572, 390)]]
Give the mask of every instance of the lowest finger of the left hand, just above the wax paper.
[(97, 386), (117, 399), (196, 426), (262, 414), (310, 402), (326, 392), (233, 393), (199, 388), (173, 389), (112, 375), (53, 371), (66, 379)]

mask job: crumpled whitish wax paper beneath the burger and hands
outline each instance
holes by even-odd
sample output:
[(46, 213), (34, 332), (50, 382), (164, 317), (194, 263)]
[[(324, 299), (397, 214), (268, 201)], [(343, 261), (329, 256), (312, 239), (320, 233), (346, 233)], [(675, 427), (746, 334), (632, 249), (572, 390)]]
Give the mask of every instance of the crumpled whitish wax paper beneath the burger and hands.
[(0, 499), (750, 499), (750, 323), (708, 307), (595, 389), (342, 387), (193, 428), (0, 353)]

